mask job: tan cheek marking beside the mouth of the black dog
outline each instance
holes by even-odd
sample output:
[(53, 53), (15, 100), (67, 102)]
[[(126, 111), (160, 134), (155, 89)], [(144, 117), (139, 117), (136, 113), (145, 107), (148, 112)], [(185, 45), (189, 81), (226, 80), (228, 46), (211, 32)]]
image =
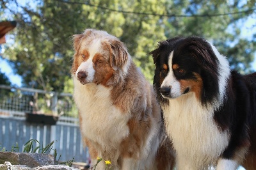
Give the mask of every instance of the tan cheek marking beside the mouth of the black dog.
[(195, 92), (196, 98), (200, 100), (202, 93), (203, 81), (198, 73), (194, 73), (196, 80), (180, 80), (180, 92), (183, 93), (187, 88), (190, 88), (190, 91)]

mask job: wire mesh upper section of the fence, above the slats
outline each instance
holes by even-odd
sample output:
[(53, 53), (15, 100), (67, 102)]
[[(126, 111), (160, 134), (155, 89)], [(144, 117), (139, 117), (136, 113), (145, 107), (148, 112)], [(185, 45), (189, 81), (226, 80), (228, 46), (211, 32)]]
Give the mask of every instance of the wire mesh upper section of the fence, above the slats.
[(77, 118), (72, 94), (0, 84), (0, 109)]

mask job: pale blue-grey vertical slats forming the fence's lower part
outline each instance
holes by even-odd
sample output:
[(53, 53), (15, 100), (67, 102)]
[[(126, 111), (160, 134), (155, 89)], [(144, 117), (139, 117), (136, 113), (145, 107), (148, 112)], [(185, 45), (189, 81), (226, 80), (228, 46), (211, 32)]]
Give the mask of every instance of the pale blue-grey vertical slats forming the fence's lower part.
[[(15, 113), (13, 113), (15, 114)], [(0, 116), (0, 150), (12, 151), (18, 146), (22, 151), (24, 144), (29, 139), (36, 139), (40, 144), (35, 144), (42, 148), (54, 141), (51, 153), (56, 149), (61, 162), (72, 160), (76, 162), (88, 162), (88, 150), (83, 148), (79, 127), (72, 123), (57, 122), (56, 125), (43, 125), (28, 123), (24, 116), (10, 117)]]

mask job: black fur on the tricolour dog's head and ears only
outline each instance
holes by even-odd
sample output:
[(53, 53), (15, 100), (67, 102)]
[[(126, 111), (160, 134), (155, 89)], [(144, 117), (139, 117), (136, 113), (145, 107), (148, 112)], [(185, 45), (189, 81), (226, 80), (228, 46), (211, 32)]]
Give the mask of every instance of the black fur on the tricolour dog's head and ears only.
[[(162, 72), (161, 65), (168, 64), (168, 57), (174, 50), (172, 65), (179, 63), (180, 66), (189, 70), (185, 77), (177, 77), (177, 79), (195, 79), (193, 72), (204, 77), (204, 88), (202, 89), (202, 104), (212, 102), (218, 96), (218, 59), (216, 58), (211, 45), (202, 38), (191, 36), (189, 38), (176, 37), (170, 40), (159, 42), (156, 50), (150, 52), (156, 65), (154, 76), (154, 87), (159, 92), (161, 84), (159, 82), (159, 74)], [(169, 68), (170, 69), (170, 68)], [(160, 93), (157, 93), (160, 94)], [(158, 96), (157, 96), (158, 97)], [(159, 100), (168, 103), (162, 97)]]

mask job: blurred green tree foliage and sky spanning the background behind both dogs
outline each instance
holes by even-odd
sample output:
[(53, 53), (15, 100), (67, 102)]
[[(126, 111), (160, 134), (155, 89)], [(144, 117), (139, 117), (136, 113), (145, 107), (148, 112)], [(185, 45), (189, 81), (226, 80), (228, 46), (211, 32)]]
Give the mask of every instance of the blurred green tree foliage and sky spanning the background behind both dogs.
[(72, 35), (88, 27), (120, 38), (149, 81), (154, 65), (148, 52), (173, 36), (202, 36), (232, 68), (252, 72), (256, 36), (244, 38), (241, 27), (256, 17), (255, 0), (34, 0), (25, 5), (1, 0), (0, 5), (0, 19), (18, 23), (13, 42), (2, 47), (23, 86), (72, 92)]

